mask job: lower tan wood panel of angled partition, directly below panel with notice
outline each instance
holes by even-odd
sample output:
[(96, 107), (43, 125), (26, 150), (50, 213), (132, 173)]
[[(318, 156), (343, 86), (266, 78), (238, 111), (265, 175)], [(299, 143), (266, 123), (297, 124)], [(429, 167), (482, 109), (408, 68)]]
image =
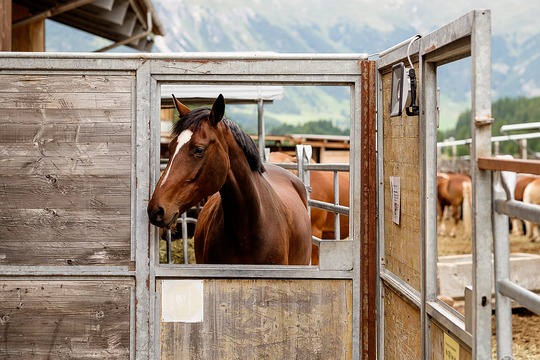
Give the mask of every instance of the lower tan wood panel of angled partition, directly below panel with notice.
[(384, 359), (421, 359), (422, 332), (418, 308), (384, 288)]

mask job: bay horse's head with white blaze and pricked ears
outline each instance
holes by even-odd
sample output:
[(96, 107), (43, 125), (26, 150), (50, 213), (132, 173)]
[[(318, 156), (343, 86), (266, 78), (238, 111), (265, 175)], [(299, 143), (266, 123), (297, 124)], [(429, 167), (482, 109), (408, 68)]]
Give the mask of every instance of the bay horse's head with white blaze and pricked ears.
[(174, 103), (180, 119), (173, 128), (169, 162), (147, 208), (150, 222), (166, 228), (173, 228), (180, 214), (217, 192), (229, 169), (221, 121), (223, 96), (212, 109), (190, 110), (176, 98)]

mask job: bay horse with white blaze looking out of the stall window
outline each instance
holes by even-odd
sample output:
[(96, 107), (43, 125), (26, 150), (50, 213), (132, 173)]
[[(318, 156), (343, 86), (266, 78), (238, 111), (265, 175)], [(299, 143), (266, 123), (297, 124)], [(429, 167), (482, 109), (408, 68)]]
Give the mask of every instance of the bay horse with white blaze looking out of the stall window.
[(197, 263), (309, 264), (307, 193), (296, 176), (263, 165), (253, 140), (223, 117), (219, 95), (211, 109), (180, 113), (172, 154), (148, 203), (150, 222), (171, 228), (210, 196), (195, 228)]

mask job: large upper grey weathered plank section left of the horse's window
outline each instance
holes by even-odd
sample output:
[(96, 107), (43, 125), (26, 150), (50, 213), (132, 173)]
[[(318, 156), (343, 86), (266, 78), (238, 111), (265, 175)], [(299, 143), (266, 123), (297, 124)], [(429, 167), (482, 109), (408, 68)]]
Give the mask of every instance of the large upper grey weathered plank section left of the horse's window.
[(0, 75), (0, 264), (126, 265), (134, 77)]

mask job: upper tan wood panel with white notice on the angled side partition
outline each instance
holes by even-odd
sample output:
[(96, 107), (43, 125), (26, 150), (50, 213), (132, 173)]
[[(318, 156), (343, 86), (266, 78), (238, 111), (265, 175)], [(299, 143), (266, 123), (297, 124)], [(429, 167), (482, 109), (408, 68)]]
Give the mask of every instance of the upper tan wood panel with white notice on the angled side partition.
[[(383, 75), (384, 103), (390, 104), (392, 74)], [(421, 236), (420, 236), (420, 132), (419, 117), (390, 117), (389, 106), (384, 107), (384, 236), (385, 266), (409, 285), (420, 291)], [(400, 224), (392, 222), (390, 177), (400, 178)], [(419, 328), (418, 328), (419, 329)]]

